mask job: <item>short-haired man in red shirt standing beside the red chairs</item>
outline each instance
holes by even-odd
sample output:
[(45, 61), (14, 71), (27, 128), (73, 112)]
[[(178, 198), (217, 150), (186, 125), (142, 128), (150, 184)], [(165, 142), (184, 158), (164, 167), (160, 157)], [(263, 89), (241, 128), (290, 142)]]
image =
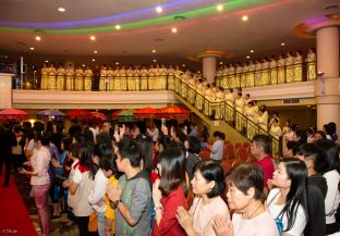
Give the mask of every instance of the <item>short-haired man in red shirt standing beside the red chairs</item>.
[(268, 195), (268, 179), (272, 178), (274, 163), (270, 157), (271, 140), (267, 135), (255, 135), (251, 146), (251, 154), (256, 158), (256, 164), (264, 171), (264, 194)]

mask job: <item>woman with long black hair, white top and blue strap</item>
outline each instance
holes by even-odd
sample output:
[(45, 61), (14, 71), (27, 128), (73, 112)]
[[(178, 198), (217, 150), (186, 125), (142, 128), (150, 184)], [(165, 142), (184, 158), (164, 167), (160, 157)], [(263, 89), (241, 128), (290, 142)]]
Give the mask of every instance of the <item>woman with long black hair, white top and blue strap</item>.
[(295, 158), (283, 159), (274, 172), (267, 208), (281, 236), (301, 236), (307, 224), (307, 167)]

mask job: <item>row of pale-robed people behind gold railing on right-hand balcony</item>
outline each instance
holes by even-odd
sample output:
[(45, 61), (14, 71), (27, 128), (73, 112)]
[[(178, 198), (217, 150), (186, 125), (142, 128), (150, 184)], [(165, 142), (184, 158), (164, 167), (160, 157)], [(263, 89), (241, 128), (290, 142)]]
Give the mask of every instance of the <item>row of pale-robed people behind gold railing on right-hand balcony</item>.
[[(306, 67), (303, 67), (303, 62)], [(316, 54), (314, 49), (303, 60), (302, 52), (295, 54), (287, 52), (278, 58), (251, 60), (243, 64), (230, 63), (217, 71), (218, 85), (223, 88), (254, 87), (263, 85), (276, 85), (291, 82), (313, 80), (316, 74)]]

